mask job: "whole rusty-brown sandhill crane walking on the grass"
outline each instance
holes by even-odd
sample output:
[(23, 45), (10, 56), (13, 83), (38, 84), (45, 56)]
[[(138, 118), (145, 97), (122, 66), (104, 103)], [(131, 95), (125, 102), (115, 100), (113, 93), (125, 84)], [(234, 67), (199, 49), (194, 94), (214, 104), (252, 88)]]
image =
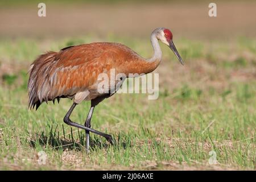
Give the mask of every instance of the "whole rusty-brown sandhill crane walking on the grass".
[[(183, 60), (172, 40), (172, 32), (168, 28), (156, 28), (151, 33), (151, 44), (154, 55), (144, 59), (131, 48), (120, 43), (96, 42), (69, 46), (59, 52), (48, 51), (34, 60), (28, 71), (28, 108), (37, 110), (43, 103), (60, 98), (70, 98), (73, 104), (64, 116), (64, 123), (84, 129), (86, 133), (86, 150), (89, 151), (90, 132), (105, 137), (111, 144), (112, 135), (102, 133), (91, 128), (94, 108), (105, 98), (113, 96), (115, 92), (100, 92), (97, 77), (101, 73), (109, 75), (110, 69), (123, 73), (125, 78), (129, 74), (147, 74), (154, 71), (162, 59), (159, 41), (166, 44), (183, 65)], [(114, 86), (122, 85), (125, 79), (115, 81)], [(112, 86), (113, 86), (112, 85)], [(110, 89), (109, 85), (106, 89)], [(117, 87), (118, 89), (119, 87)], [(84, 125), (71, 121), (72, 111), (82, 101), (90, 101), (89, 113)]]

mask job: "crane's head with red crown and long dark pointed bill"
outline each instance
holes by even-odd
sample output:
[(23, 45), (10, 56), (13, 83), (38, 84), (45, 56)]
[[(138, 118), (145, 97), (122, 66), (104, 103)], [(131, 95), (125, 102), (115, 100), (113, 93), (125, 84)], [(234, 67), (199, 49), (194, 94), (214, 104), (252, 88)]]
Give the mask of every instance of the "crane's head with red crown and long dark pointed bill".
[(158, 40), (170, 47), (180, 63), (183, 64), (183, 60), (172, 41), (172, 32), (168, 28), (156, 28), (156, 30), (153, 31), (153, 34), (155, 34)]

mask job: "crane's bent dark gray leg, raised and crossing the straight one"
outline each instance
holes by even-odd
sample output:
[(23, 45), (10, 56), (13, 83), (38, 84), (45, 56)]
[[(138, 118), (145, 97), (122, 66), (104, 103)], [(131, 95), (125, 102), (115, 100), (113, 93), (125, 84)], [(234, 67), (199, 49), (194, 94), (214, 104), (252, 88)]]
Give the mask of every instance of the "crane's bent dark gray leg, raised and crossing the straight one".
[[(69, 119), (69, 117), (70, 117), (72, 111), (74, 110), (74, 108), (76, 107), (76, 105), (77, 105), (77, 104), (74, 103), (74, 104), (70, 107), (70, 109), (68, 110), (68, 113), (65, 115), (63, 121), (64, 121), (65, 123), (67, 123), (68, 125), (75, 126), (75, 127), (80, 128), (80, 129), (84, 129), (85, 131), (90, 131), (90, 132), (92, 132), (92, 133), (95, 133), (95, 134), (97, 134), (97, 135), (100, 135), (101, 137), (105, 137), (106, 140), (108, 140), (111, 144), (113, 144), (113, 139), (112, 139), (112, 136), (111, 136), (111, 135), (102, 133), (102, 132), (97, 131), (97, 130), (94, 130), (94, 129), (90, 129), (89, 127), (86, 127), (86, 126), (82, 126), (82, 125), (80, 125), (80, 124), (78, 124), (78, 123), (72, 122), (71, 119)], [(90, 114), (90, 112), (89, 112), (89, 114)], [(92, 116), (90, 116), (90, 118), (92, 118)]]

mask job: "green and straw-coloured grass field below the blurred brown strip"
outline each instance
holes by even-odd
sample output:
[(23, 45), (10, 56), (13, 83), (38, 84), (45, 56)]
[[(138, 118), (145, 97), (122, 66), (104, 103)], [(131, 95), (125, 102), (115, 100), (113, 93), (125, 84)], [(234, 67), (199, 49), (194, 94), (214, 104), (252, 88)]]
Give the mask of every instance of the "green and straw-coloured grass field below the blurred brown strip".
[[(256, 39), (229, 42), (176, 38), (179, 64), (162, 46), (158, 100), (146, 94), (115, 94), (96, 107), (94, 129), (113, 134), (110, 146), (63, 123), (72, 104), (27, 110), (27, 69), (40, 53), (71, 44), (121, 42), (144, 57), (148, 39), (90, 35), (58, 40), (2, 39), (0, 44), (0, 169), (256, 169)], [(84, 123), (89, 102), (71, 118)], [(38, 152), (47, 154), (38, 163)], [(209, 164), (209, 152), (217, 164)]]

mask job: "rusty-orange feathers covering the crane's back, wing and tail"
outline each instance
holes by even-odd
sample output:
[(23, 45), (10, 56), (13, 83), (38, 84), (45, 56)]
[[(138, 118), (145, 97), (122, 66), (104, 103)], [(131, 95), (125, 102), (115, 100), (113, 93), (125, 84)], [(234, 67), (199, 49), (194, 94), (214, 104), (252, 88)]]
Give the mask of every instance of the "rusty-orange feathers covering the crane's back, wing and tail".
[[(96, 89), (100, 73), (148, 73), (160, 60), (147, 62), (129, 47), (117, 43), (91, 43), (47, 52), (31, 64), (28, 80), (28, 107), (42, 102), (73, 98), (77, 93)], [(97, 97), (97, 96), (93, 96)], [(92, 99), (93, 97), (89, 98)]]

